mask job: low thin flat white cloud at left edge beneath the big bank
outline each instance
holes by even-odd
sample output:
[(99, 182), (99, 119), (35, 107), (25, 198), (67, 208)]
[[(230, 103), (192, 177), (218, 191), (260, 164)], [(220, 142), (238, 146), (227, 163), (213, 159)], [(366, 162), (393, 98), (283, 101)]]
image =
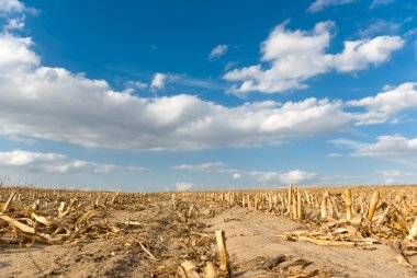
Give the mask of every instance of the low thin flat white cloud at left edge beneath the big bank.
[(43, 173), (74, 173), (92, 172), (109, 173), (115, 171), (143, 171), (138, 166), (117, 166), (113, 164), (100, 164), (82, 160), (70, 160), (60, 153), (41, 153), (22, 150), (0, 152), (0, 165), (22, 167), (30, 172)]

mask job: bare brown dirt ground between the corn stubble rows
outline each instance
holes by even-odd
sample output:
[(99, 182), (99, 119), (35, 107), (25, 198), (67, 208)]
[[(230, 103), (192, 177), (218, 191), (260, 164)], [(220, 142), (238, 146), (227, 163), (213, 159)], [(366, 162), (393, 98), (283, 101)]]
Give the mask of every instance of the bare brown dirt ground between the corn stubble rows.
[[(113, 236), (59, 245), (35, 243), (29, 248), (0, 243), (0, 277), (177, 277), (178, 266), (185, 259), (198, 270), (206, 262), (217, 264), (215, 230), (226, 233), (233, 277), (417, 277), (416, 270), (401, 266), (385, 245), (348, 248), (282, 241), (275, 238), (278, 233), (305, 224), (245, 208), (213, 209), (210, 205), (198, 204), (200, 213), (191, 218), (184, 217), (189, 205), (183, 210), (172, 209), (167, 199), (120, 205), (97, 220), (120, 227)], [(132, 224), (122, 225), (125, 220)], [(264, 267), (277, 257), (283, 262), (271, 269)], [(409, 260), (417, 266), (417, 256)]]

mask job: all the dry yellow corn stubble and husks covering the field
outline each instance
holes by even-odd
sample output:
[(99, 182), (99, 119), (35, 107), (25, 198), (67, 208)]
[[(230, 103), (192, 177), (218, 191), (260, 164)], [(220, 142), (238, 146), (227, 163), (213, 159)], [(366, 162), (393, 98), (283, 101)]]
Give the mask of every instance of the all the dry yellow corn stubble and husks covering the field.
[[(227, 231), (206, 234), (195, 219), (211, 218), (235, 206), (307, 224), (306, 230), (278, 234), (280, 240), (360, 248), (384, 244), (393, 258), (406, 267), (413, 267), (407, 256), (417, 254), (417, 188), (413, 186), (300, 188), (290, 185), (275, 190), (158, 194), (3, 187), (0, 193), (3, 201), (0, 204), (0, 242), (27, 247), (35, 243), (116, 239), (121, 244), (140, 250), (151, 262), (151, 277), (230, 277), (233, 262), (226, 251)], [(109, 211), (114, 209), (158, 209), (154, 206), (156, 199), (164, 199), (170, 208), (168, 219), (164, 220), (167, 231), (174, 231), (170, 236), (192, 250), (177, 256), (176, 267), (161, 265), (167, 256), (161, 253), (166, 239), (161, 239), (159, 245), (145, 235), (133, 239), (128, 236), (129, 231), (143, 228), (144, 223), (135, 219), (119, 222), (108, 219)], [(218, 252), (214, 253), (215, 244)], [(280, 255), (278, 263), (274, 260), (281, 271), (285, 270), (285, 259)], [(285, 263), (297, 264), (298, 260)]]

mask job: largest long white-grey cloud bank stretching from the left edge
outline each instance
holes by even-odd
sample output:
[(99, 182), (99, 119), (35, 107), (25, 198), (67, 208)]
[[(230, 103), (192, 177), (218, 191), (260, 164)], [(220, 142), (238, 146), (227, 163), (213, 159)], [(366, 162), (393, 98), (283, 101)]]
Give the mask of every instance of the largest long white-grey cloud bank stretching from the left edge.
[(31, 45), (30, 38), (0, 35), (0, 134), (9, 137), (129, 151), (195, 150), (327, 135), (356, 120), (340, 101), (327, 99), (226, 107), (184, 94), (138, 97), (103, 80), (43, 67)]

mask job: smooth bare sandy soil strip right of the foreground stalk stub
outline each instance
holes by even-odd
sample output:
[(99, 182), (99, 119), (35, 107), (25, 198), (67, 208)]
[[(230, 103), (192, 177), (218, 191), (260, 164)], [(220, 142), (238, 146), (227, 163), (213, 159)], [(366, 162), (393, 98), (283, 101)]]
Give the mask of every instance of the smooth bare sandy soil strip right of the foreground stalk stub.
[[(278, 240), (278, 233), (304, 228), (303, 223), (283, 217), (235, 207), (205, 223), (210, 225), (208, 232), (218, 229), (226, 231), (227, 252), (237, 268), (235, 277), (281, 277), (279, 271), (264, 270), (261, 265), (283, 254), (293, 260), (304, 258), (312, 262), (304, 268), (304, 273), (313, 274), (316, 270), (317, 276), (417, 277), (414, 269), (398, 265), (390, 248), (384, 245), (347, 248)], [(417, 256), (409, 257), (409, 260), (416, 265)]]

